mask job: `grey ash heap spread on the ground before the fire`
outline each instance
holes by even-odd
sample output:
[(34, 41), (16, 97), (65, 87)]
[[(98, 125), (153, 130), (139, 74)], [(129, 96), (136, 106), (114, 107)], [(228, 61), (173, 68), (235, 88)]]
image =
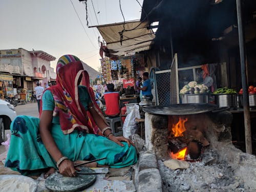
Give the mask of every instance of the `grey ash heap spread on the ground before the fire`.
[[(232, 166), (218, 160), (217, 154), (217, 151), (207, 148), (202, 161), (183, 161), (180, 165), (173, 165), (174, 169), (159, 160), (163, 191), (253, 191), (244, 185), (244, 180)], [(184, 162), (188, 168), (182, 165)]]

